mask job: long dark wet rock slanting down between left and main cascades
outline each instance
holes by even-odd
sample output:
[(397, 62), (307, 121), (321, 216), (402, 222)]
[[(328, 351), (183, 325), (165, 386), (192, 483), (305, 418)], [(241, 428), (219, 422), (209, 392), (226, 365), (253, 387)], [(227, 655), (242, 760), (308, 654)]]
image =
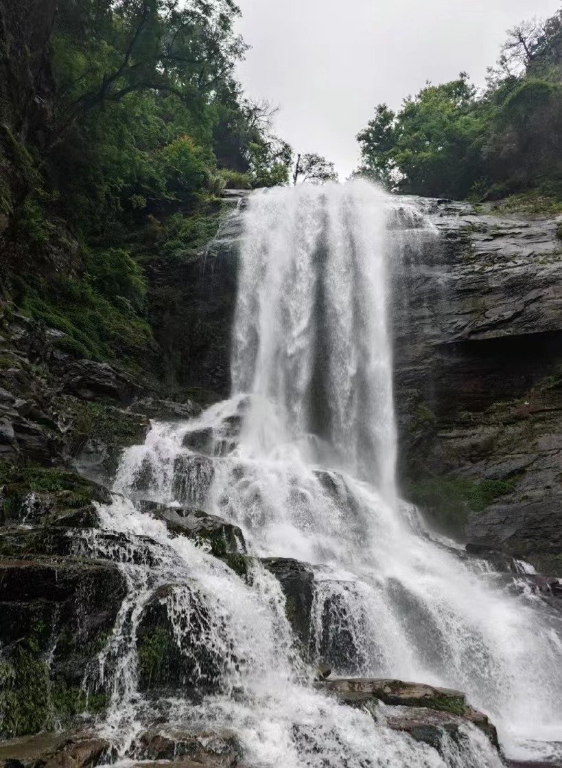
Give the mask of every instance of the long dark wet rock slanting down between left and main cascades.
[(189, 507), (166, 507), (155, 502), (139, 502), (139, 505), (143, 511), (163, 520), (171, 533), (206, 542), (216, 558), (246, 551), (241, 529), (222, 518)]

